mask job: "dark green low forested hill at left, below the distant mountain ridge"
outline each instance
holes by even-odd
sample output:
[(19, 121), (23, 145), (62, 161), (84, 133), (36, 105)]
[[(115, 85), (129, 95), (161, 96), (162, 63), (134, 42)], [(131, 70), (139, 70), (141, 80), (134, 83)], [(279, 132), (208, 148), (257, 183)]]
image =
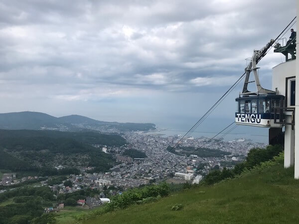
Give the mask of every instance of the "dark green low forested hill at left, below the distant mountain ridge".
[(50, 176), (59, 174), (55, 166), (63, 165), (67, 174), (78, 173), (75, 167), (87, 166), (94, 167), (91, 172), (106, 172), (115, 160), (102, 152), (101, 146), (121, 147), (126, 143), (119, 135), (97, 132), (0, 130), (0, 170)]

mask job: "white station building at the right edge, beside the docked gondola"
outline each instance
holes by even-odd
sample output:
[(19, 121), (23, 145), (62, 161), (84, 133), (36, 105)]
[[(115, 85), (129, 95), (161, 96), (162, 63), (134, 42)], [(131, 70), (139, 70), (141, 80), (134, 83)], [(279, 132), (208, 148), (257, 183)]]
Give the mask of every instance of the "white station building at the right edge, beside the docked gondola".
[[(299, 5), (299, 0), (297, 0)], [(299, 8), (297, 8), (299, 14)], [(297, 22), (297, 30), (299, 23)], [(296, 123), (299, 123), (299, 60), (296, 60), (296, 49), (299, 43), (286, 44), (286, 46), (277, 48), (275, 52), (285, 55), (285, 62), (275, 66), (272, 73), (272, 89), (280, 95), (285, 96), (283, 119), (284, 119), (284, 166), (295, 167), (294, 177), (299, 179), (299, 131), (296, 130)], [(298, 75), (297, 75), (298, 74)]]

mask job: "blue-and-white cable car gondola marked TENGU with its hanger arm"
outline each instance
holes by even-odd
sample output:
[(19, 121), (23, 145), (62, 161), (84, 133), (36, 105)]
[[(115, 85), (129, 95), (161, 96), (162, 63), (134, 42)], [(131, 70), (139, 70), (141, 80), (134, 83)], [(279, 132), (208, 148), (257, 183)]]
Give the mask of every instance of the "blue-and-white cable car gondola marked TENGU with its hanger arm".
[[(275, 91), (264, 89), (259, 80), (259, 69), (256, 64), (264, 57), (267, 50), (274, 43), (271, 40), (264, 48), (257, 51), (254, 50), (253, 57), (246, 67), (246, 78), (242, 93), (236, 98), (237, 112), (235, 122), (236, 124), (251, 125), (259, 127), (281, 127), (277, 123), (279, 121), (279, 114), (275, 113), (275, 108), (281, 108), (284, 105), (285, 97), (278, 95)], [(250, 72), (253, 71), (255, 81), (249, 82)], [(257, 92), (249, 92), (247, 90), (248, 83), (255, 82)]]

